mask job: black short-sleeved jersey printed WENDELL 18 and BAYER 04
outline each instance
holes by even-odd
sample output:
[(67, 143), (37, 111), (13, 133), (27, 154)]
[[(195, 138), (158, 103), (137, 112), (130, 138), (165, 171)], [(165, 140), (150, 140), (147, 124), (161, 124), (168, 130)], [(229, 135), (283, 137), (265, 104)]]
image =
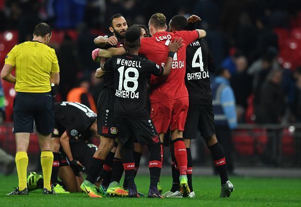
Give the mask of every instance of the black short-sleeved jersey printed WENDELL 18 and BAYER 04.
[(147, 79), (149, 74), (162, 76), (164, 68), (146, 58), (125, 54), (107, 60), (104, 70), (115, 74), (115, 117), (149, 117), (146, 108)]

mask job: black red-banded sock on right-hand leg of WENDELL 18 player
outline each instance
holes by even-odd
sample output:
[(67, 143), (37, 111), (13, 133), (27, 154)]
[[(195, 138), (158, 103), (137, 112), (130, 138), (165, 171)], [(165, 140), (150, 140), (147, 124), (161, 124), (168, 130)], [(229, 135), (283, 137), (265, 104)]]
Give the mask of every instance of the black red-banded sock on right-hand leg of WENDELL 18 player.
[(149, 150), (149, 174), (150, 174), (150, 186), (156, 186), (159, 182), (162, 162), (161, 162), (161, 145), (160, 144), (150, 144), (147, 145)]

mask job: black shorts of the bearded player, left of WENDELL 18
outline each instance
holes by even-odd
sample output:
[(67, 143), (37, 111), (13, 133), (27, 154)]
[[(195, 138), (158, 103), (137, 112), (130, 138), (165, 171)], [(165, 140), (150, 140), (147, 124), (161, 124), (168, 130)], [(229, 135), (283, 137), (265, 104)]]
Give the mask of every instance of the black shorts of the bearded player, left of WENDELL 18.
[(104, 88), (97, 101), (97, 133), (101, 136), (117, 138), (117, 124), (114, 117), (115, 93)]

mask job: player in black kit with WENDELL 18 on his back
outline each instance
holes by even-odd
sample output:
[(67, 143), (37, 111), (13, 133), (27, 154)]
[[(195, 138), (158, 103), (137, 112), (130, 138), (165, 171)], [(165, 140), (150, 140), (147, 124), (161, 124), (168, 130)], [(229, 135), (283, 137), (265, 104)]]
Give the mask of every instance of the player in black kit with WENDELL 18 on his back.
[(168, 75), (174, 53), (181, 44), (181, 40), (170, 43), (168, 58), (165, 68), (163, 68), (138, 56), (140, 28), (132, 26), (125, 34), (128, 53), (112, 57), (102, 64), (103, 71), (114, 71), (115, 74), (115, 117), (122, 143), (122, 162), (125, 179), (129, 185), (129, 197), (138, 197), (134, 182), (135, 162), (133, 158), (133, 137), (136, 137), (141, 145), (147, 145), (150, 153), (148, 197), (162, 198), (157, 189), (162, 167), (161, 146), (158, 132), (146, 108), (147, 77), (148, 74)]

